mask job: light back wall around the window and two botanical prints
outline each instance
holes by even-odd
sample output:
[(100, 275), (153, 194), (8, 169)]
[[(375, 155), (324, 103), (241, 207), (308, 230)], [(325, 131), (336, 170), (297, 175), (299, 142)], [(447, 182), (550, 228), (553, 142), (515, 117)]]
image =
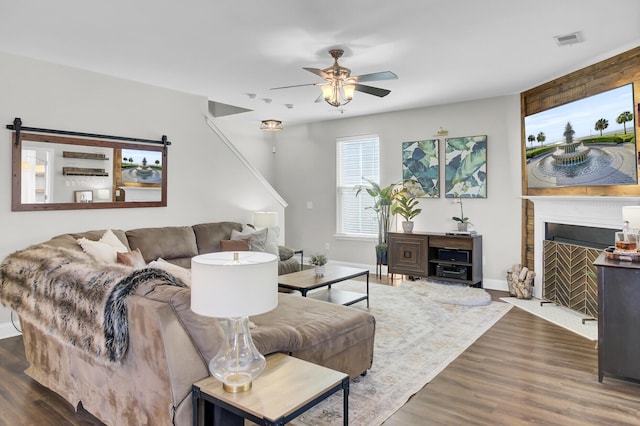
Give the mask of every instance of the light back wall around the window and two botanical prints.
[[(277, 136), (275, 186), (289, 201), (287, 243), (305, 254), (325, 251), (329, 259), (375, 264), (375, 241), (336, 239), (336, 138), (377, 133), (383, 185), (402, 177), (402, 142), (433, 139), (443, 127), (449, 137), (487, 135), (486, 199), (464, 201), (465, 215), (483, 235), (484, 285), (506, 290), (506, 271), (520, 262), (521, 163), (518, 95), (474, 102), (287, 126)], [(444, 198), (444, 139), (440, 138), (441, 197), (420, 199), (416, 231), (455, 229), (459, 207)], [(354, 195), (355, 196), (355, 195)], [(307, 202), (313, 208), (307, 208)], [(400, 228), (401, 229), (401, 228)]]

